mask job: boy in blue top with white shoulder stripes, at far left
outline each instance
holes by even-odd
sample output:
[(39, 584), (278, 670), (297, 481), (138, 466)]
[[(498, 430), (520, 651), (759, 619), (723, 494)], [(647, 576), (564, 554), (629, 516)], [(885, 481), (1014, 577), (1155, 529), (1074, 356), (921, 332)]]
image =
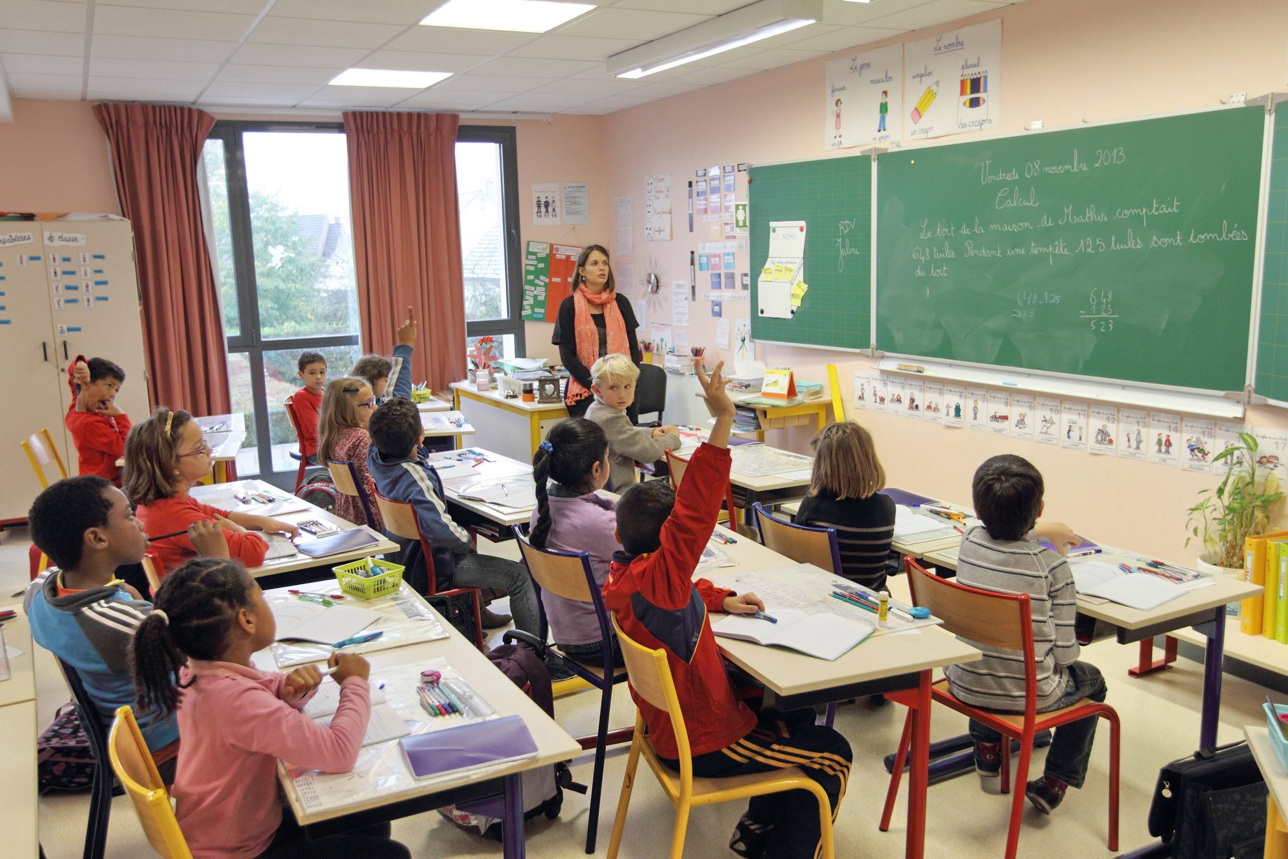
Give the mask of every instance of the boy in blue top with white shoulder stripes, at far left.
[[(32, 540), (57, 564), (27, 587), (23, 610), (31, 635), (76, 668), (103, 725), (111, 725), (117, 707), (134, 704), (130, 645), (152, 612), (117, 571), (143, 560), (148, 536), (125, 493), (98, 475), (54, 483), (36, 496), (27, 519)], [(188, 536), (202, 555), (228, 558), (223, 531), (213, 522), (196, 523)], [(161, 778), (173, 783), (178, 725), (137, 715)]]

